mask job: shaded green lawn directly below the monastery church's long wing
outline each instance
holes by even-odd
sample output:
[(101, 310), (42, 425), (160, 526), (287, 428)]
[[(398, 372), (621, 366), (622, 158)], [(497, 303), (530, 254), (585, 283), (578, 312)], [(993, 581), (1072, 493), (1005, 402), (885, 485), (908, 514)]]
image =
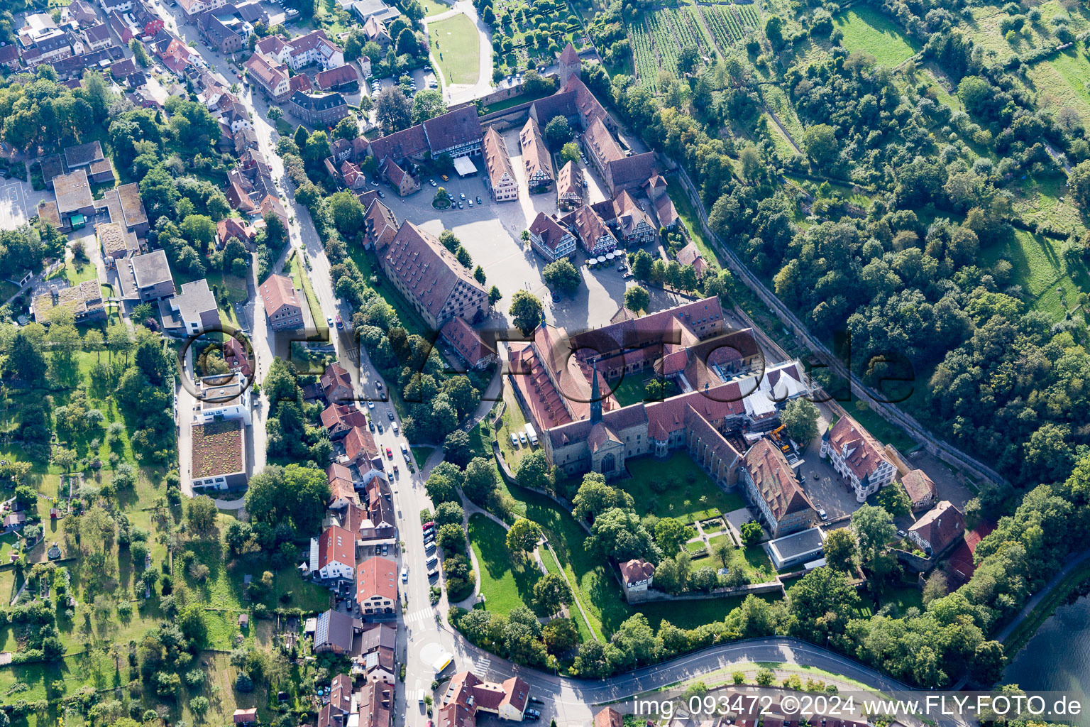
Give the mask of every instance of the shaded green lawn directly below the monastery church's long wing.
[[(692, 522), (746, 507), (739, 495), (719, 489), (686, 452), (676, 451), (665, 460), (630, 460), (628, 471), (632, 476), (618, 486), (632, 495), (637, 512)], [(666, 485), (665, 492), (652, 488), (655, 481)]]

